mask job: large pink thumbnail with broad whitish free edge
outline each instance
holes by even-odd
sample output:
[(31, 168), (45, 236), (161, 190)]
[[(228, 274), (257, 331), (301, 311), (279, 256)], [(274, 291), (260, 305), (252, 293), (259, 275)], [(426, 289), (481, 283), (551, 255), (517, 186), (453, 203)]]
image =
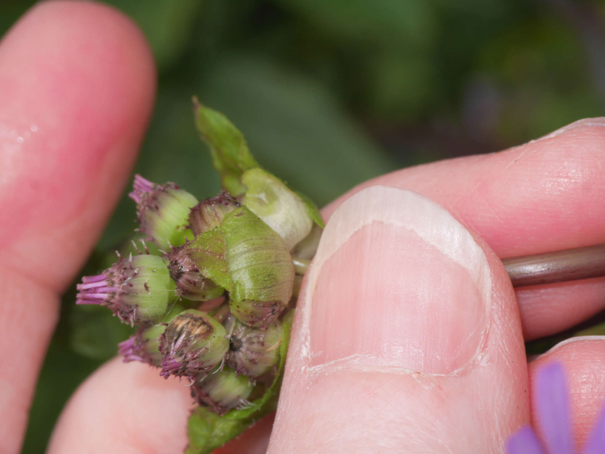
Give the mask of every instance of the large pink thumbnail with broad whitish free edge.
[(310, 365), (457, 371), (483, 348), (491, 285), (483, 250), (445, 209), (362, 190), (330, 218), (310, 270)]

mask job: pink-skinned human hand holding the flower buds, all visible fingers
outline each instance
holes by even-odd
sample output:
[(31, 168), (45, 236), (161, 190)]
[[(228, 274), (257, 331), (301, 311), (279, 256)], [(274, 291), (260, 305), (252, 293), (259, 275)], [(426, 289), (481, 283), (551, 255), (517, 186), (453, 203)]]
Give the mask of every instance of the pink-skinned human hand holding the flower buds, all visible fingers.
[[(49, 2), (0, 44), (0, 92), (0, 320), (11, 352), (0, 368), (0, 443), (16, 453), (59, 294), (122, 193), (145, 130), (152, 57), (115, 11)], [(500, 452), (529, 420), (528, 372), (555, 358), (581, 441), (605, 395), (603, 340), (567, 343), (528, 367), (523, 335), (601, 310), (605, 279), (517, 290), (517, 306), (498, 257), (604, 242), (604, 126), (587, 120), (499, 154), (404, 169), (327, 207), (330, 218), (379, 184), (451, 215), (380, 188), (334, 214), (299, 300), (270, 452)], [(420, 240), (429, 232), (438, 244)], [(181, 452), (190, 405), (177, 380), (116, 359), (76, 392), (49, 451)], [(264, 452), (271, 424), (222, 452)]]

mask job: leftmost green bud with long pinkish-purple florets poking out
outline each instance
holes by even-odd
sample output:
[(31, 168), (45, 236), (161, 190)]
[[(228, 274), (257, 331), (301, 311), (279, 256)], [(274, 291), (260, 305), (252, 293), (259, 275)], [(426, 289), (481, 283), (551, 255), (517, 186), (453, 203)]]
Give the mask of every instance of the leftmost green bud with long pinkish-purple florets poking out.
[(82, 277), (76, 304), (100, 304), (129, 323), (155, 323), (175, 298), (168, 262), (154, 255), (130, 255), (97, 276)]

